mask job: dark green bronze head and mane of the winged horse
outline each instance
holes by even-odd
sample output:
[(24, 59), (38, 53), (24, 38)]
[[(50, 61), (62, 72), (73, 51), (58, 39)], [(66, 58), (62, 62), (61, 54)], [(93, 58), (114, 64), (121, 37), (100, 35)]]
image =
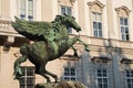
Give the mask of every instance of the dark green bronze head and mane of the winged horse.
[(75, 19), (68, 14), (57, 15), (54, 22), (59, 24), (64, 24), (68, 28), (73, 28), (76, 32), (81, 31), (80, 25), (76, 23)]

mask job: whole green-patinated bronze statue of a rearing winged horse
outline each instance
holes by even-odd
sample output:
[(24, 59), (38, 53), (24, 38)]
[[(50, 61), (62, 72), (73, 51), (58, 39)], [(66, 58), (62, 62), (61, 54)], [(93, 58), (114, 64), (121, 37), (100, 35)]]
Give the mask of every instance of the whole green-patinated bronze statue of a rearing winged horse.
[(16, 18), (16, 22), (11, 22), (11, 25), (20, 34), (34, 41), (32, 44), (23, 44), (20, 47), (22, 56), (14, 62), (13, 74), (16, 79), (20, 79), (22, 76), (20, 64), (28, 58), (34, 64), (35, 74), (43, 76), (47, 81), (51, 81), (49, 76), (58, 81), (58, 76), (45, 69), (48, 62), (59, 58), (70, 47), (73, 48), (74, 55), (78, 55), (76, 50), (73, 47), (73, 44), (78, 41), (84, 45), (85, 51), (89, 51), (88, 44), (80, 40), (80, 35), (69, 37), (68, 28), (73, 28), (76, 32), (81, 31), (81, 28), (71, 15), (57, 15), (52, 22), (30, 22)]

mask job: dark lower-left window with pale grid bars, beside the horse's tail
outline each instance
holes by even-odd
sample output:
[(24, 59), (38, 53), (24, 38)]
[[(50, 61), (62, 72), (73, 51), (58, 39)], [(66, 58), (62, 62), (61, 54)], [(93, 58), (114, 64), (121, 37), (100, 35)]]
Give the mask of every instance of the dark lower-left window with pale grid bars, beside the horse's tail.
[(34, 88), (34, 67), (21, 67), (22, 77), (20, 79), (20, 88)]

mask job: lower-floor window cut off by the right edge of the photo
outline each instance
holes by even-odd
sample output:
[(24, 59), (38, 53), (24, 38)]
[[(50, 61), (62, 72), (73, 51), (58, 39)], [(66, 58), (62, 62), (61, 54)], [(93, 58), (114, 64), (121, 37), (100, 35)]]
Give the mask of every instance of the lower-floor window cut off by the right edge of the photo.
[(133, 70), (125, 70), (126, 88), (133, 88)]

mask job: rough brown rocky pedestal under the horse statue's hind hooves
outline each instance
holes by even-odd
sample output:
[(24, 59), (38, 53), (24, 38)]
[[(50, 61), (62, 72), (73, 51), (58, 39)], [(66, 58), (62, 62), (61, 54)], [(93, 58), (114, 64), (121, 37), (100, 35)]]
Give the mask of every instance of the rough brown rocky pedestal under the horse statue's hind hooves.
[(38, 84), (35, 85), (35, 88), (86, 88), (82, 82), (80, 81), (60, 81), (58, 84)]

